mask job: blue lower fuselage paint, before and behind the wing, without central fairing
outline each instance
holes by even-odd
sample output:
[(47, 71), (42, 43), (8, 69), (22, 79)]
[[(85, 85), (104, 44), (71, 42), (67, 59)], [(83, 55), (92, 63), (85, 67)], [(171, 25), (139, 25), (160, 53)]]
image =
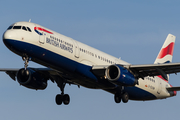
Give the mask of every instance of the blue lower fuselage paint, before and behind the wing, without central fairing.
[[(47, 49), (41, 48), (39, 46), (30, 44), (30, 43), (25, 43), (25, 42), (21, 42), (17, 40), (4, 40), (4, 41), (5, 41), (4, 43), (9, 49), (13, 47), (13, 50), (11, 49), (13, 52), (15, 52), (14, 50), (16, 50), (15, 53), (17, 52), (26, 53), (30, 55), (32, 58), (34, 57), (34, 58), (44, 61), (45, 63), (48, 63), (48, 65), (49, 63), (51, 63), (52, 66), (57, 66), (62, 69), (68, 70), (70, 72), (74, 72), (74, 73), (83, 75), (87, 78), (90, 78), (89, 80), (91, 80), (91, 82), (94, 81), (96, 82), (95, 84), (97, 84), (98, 79), (90, 71), (91, 66), (78, 63), (69, 58), (66, 58), (57, 53), (51, 52)], [(47, 67), (51, 67), (51, 66), (47, 66)], [(138, 87), (124, 87), (124, 90), (128, 92), (130, 99), (133, 99), (133, 100), (156, 99), (156, 97), (153, 94), (145, 90), (142, 90)]]

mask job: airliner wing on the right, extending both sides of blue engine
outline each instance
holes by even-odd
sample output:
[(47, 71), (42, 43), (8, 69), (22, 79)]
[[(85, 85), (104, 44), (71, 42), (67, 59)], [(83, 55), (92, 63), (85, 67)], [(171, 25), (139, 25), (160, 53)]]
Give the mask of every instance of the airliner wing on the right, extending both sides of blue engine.
[[(146, 64), (146, 65), (120, 65), (139, 78), (146, 76), (158, 76), (161, 75), (164, 79), (167, 78), (167, 74), (180, 72), (180, 63), (166, 63), (166, 64)], [(105, 70), (108, 65), (93, 66), (92, 71), (97, 76), (104, 76)]]

